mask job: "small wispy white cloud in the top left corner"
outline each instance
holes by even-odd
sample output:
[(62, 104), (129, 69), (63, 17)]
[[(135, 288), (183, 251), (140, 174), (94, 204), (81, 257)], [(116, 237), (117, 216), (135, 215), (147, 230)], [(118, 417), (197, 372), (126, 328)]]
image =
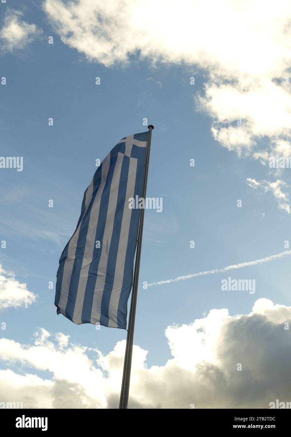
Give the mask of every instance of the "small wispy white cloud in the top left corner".
[(21, 16), (20, 11), (8, 10), (4, 18), (3, 27), (0, 30), (4, 51), (12, 52), (14, 49), (23, 49), (42, 33), (42, 29), (35, 24), (23, 21)]

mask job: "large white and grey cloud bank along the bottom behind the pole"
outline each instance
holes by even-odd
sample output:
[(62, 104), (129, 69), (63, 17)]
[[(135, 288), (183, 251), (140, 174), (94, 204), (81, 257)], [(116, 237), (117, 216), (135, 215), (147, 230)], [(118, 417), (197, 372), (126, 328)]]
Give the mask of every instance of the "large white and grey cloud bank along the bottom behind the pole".
[[(165, 365), (147, 368), (147, 351), (134, 347), (129, 407), (269, 408), (276, 399), (289, 402), (288, 321), (291, 307), (261, 298), (246, 315), (212, 309), (189, 325), (168, 326), (172, 358)], [(125, 340), (107, 355), (61, 343), (45, 329), (33, 345), (1, 339), (4, 364), (33, 372), (0, 371), (0, 399), (24, 402), (24, 408), (118, 408)], [(41, 371), (52, 372), (51, 380), (32, 375)]]

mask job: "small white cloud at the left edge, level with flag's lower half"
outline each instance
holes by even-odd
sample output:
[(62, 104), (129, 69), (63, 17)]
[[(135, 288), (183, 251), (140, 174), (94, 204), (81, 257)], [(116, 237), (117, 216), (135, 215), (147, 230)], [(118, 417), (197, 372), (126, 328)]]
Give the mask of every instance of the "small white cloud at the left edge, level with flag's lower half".
[(25, 307), (35, 302), (36, 295), (25, 283), (17, 281), (14, 272), (5, 271), (0, 264), (0, 309)]

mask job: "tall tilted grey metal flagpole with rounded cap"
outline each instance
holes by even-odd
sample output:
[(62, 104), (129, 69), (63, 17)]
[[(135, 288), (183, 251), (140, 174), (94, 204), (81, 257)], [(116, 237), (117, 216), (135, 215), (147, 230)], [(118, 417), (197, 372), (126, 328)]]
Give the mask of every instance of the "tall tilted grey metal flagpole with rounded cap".
[[(145, 199), (146, 184), (148, 181), (148, 173), (149, 173), (149, 152), (151, 148), (152, 129), (154, 127), (153, 125), (149, 125), (148, 128), (149, 128), (149, 136), (146, 144), (145, 174), (143, 177), (143, 187), (142, 187), (142, 198), (144, 199)], [(135, 270), (134, 270), (133, 284), (132, 284), (132, 300), (130, 303), (130, 311), (129, 311), (129, 319), (128, 319), (128, 331), (127, 331), (127, 338), (126, 338), (123, 376), (122, 376), (121, 394), (120, 394), (120, 402), (119, 402), (120, 409), (127, 409), (128, 406), (130, 372), (132, 369), (133, 337), (135, 334), (135, 312), (136, 312), (137, 292), (138, 292), (138, 284), (139, 284), (139, 264), (140, 264), (140, 255), (142, 251), (142, 229), (143, 229), (144, 215), (145, 215), (145, 208), (142, 208), (140, 213), (140, 219), (139, 219), (139, 232), (138, 232), (137, 248), (136, 248)]]

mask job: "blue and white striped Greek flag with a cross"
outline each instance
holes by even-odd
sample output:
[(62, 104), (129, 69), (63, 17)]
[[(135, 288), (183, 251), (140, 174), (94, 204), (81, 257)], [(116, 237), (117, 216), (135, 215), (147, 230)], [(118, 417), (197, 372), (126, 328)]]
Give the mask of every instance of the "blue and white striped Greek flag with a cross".
[(77, 325), (126, 329), (141, 211), (128, 199), (142, 196), (148, 134), (121, 139), (100, 164), (60, 257), (55, 306)]

